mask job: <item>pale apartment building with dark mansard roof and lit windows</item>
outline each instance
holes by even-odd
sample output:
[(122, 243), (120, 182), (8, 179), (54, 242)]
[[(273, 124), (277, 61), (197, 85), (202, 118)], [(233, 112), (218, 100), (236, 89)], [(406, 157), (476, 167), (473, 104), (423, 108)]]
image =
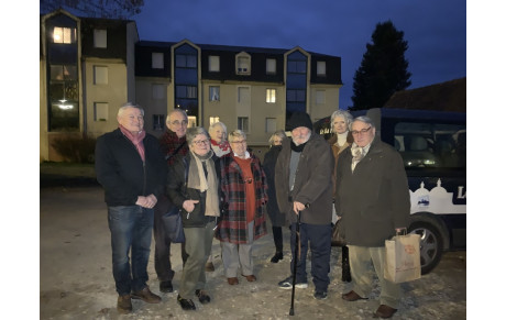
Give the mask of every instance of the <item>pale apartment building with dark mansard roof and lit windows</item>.
[(294, 111), (314, 121), (339, 109), (341, 58), (290, 49), (140, 41), (134, 21), (41, 16), (41, 161), (59, 161), (52, 141), (117, 128), (121, 104), (145, 110), (160, 136), (174, 108), (190, 125), (241, 129), (258, 153)]

